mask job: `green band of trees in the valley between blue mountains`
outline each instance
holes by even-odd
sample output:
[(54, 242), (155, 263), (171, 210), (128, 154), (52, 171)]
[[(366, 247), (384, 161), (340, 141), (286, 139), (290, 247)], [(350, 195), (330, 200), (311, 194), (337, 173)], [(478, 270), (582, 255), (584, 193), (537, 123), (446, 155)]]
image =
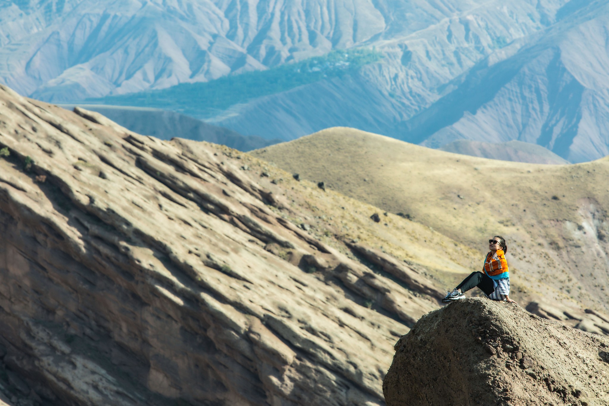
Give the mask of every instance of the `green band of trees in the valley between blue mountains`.
[(361, 66), (381, 60), (373, 49), (333, 51), (322, 57), (277, 66), (266, 71), (228, 75), (203, 83), (181, 83), (162, 90), (87, 99), (87, 103), (163, 108), (189, 116), (206, 118), (215, 111), (256, 97), (281, 93), (323, 79), (342, 77)]

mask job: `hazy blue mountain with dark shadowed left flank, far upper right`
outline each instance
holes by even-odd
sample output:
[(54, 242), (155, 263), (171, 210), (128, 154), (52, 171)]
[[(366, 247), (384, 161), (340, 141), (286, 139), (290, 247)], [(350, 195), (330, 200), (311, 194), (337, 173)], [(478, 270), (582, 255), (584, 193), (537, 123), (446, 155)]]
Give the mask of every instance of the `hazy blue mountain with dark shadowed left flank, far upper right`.
[(571, 162), (609, 155), (609, 4), (591, 2), (514, 55), (484, 61), (406, 123), (431, 147), (454, 139), (543, 145)]

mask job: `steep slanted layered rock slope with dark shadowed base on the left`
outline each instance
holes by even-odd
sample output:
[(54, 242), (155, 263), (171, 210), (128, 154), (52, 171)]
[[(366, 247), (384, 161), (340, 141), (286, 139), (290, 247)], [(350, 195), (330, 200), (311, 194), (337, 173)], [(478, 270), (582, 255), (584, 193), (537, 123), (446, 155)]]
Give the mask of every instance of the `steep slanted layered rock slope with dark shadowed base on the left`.
[(0, 150), (0, 369), (33, 404), (381, 405), (438, 307), (403, 262), (359, 247), (398, 284), (287, 221), (234, 150), (5, 87)]

